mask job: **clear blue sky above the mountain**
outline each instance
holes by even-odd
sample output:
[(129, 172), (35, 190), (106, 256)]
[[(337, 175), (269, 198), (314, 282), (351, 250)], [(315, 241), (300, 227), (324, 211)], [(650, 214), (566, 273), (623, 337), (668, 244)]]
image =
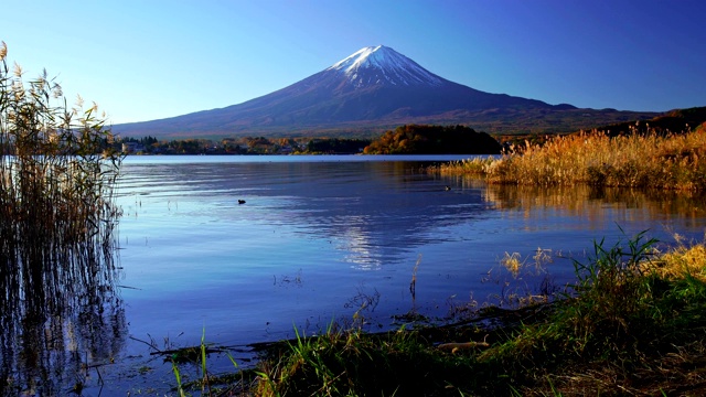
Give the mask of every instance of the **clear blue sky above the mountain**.
[(0, 40), (113, 124), (225, 107), (370, 45), (447, 79), (578, 107), (706, 106), (703, 0), (7, 1)]

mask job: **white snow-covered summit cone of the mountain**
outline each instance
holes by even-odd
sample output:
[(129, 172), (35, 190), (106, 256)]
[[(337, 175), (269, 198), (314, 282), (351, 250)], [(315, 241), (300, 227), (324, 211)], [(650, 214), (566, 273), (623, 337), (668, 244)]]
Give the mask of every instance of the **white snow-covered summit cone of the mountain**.
[(361, 49), (327, 71), (342, 73), (355, 87), (368, 85), (431, 85), (443, 81), (395, 50), (384, 46)]

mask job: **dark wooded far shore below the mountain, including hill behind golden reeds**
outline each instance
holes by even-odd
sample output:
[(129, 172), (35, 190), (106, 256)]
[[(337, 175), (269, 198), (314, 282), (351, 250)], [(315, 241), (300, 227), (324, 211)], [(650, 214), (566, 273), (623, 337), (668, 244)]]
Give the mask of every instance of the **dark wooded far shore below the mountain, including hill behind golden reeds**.
[[(706, 107), (696, 107), (672, 110), (651, 120), (613, 124), (593, 131), (611, 137), (649, 131), (670, 135), (693, 130), (705, 121)], [(498, 154), (513, 144), (543, 144), (549, 137), (491, 136), (459, 125), (404, 125), (376, 139), (238, 137), (168, 141), (147, 136), (118, 137), (110, 149), (125, 154)]]

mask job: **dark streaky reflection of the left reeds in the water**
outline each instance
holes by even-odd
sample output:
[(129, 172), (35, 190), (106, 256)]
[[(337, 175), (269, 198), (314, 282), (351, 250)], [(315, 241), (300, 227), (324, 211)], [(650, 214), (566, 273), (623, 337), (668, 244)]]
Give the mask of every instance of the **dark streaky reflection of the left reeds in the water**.
[(125, 344), (113, 245), (15, 243), (2, 238), (0, 395), (81, 391)]

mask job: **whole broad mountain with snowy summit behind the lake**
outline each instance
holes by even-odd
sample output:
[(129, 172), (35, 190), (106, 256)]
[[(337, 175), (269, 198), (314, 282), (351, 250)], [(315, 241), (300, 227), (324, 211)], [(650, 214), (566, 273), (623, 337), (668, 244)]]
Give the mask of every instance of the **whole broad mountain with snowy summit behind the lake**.
[[(612, 109), (600, 112), (607, 115), (595, 120), (596, 125), (655, 116), (640, 117)], [(378, 45), (362, 49), (298, 83), (238, 105), (116, 125), (113, 130), (124, 137), (149, 135), (162, 139), (373, 135), (403, 124), (460, 124), (489, 132), (513, 128), (521, 132), (528, 122), (542, 126), (546, 121), (561, 128), (567, 124), (564, 119), (586, 116), (586, 109), (571, 105), (490, 94), (450, 82), (393, 49)]]

